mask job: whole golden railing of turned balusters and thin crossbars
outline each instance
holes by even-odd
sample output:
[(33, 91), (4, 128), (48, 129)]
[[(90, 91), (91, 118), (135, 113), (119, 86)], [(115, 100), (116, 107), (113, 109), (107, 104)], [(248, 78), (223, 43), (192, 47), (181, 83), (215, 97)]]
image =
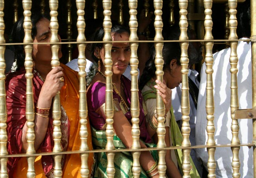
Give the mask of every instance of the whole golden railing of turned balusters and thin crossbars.
[[(68, 17), (70, 18), (70, 6), (71, 6), (71, 1), (67, 1), (67, 7), (68, 7)], [(183, 141), (182, 141), (182, 146), (171, 146), (166, 148), (165, 141), (164, 141), (164, 135), (165, 135), (165, 128), (164, 128), (164, 115), (163, 111), (164, 109), (164, 104), (163, 101), (161, 100), (161, 97), (158, 95), (157, 96), (157, 105), (156, 105), (156, 112), (158, 115), (158, 144), (157, 148), (147, 148), (147, 149), (141, 149), (139, 145), (139, 104), (138, 104), (138, 81), (137, 81), (137, 66), (138, 66), (138, 57), (137, 57), (137, 48), (138, 48), (138, 43), (145, 42), (145, 41), (138, 41), (137, 37), (137, 5), (138, 1), (137, 0), (128, 0), (128, 6), (129, 6), (129, 14), (130, 14), (130, 20), (129, 20), (129, 26), (130, 26), (130, 46), (131, 46), (131, 59), (130, 59), (130, 65), (132, 67), (131, 70), (131, 75), (132, 75), (132, 102), (131, 102), (131, 113), (132, 113), (132, 136), (133, 136), (133, 145), (131, 149), (123, 149), (123, 150), (115, 150), (114, 145), (113, 145), (113, 135), (114, 135), (114, 130), (113, 130), (113, 88), (112, 88), (112, 82), (111, 82), (111, 76), (112, 76), (112, 59), (111, 59), (111, 47), (112, 47), (112, 39), (110, 36), (110, 30), (111, 30), (111, 0), (103, 0), (102, 1), (102, 6), (103, 6), (103, 13), (104, 13), (104, 22), (103, 22), (103, 27), (104, 27), (104, 49), (105, 49), (105, 60), (104, 60), (104, 65), (106, 67), (105, 75), (106, 75), (106, 123), (107, 123), (107, 145), (106, 145), (106, 150), (88, 150), (87, 146), (87, 127), (86, 124), (88, 122), (87, 120), (87, 98), (86, 98), (86, 84), (85, 84), (85, 47), (86, 47), (86, 39), (85, 39), (85, 0), (76, 0), (76, 8), (77, 8), (77, 30), (78, 30), (78, 35), (76, 42), (70, 42), (70, 27), (72, 24), (72, 20), (68, 18), (67, 24), (68, 24), (68, 36), (67, 39), (70, 41), (62, 43), (62, 44), (77, 44), (78, 46), (78, 51), (79, 51), (79, 56), (78, 56), (78, 66), (80, 69), (79, 74), (79, 80), (80, 80), (80, 89), (79, 89), (79, 94), (80, 94), (80, 102), (79, 102), (79, 116), (80, 116), (80, 139), (81, 139), (81, 145), (80, 145), (80, 150), (75, 151), (75, 152), (62, 152), (61, 145), (60, 145), (60, 140), (61, 140), (61, 128), (60, 126), (60, 116), (61, 116), (61, 111), (60, 111), (60, 101), (59, 101), (59, 93), (54, 97), (54, 104), (53, 104), (53, 125), (54, 125), (54, 149), (52, 153), (41, 153), (41, 154), (35, 154), (35, 148), (33, 146), (34, 144), (34, 139), (35, 139), (35, 132), (34, 132), (34, 119), (35, 119), (35, 112), (34, 112), (34, 106), (33, 106), (33, 90), (32, 90), (32, 69), (33, 69), (33, 60), (32, 60), (32, 38), (31, 38), (31, 20), (30, 20), (30, 15), (31, 15), (31, 8), (32, 8), (32, 0), (23, 0), (22, 1), (22, 7), (24, 9), (24, 31), (25, 31), (25, 37), (24, 37), (24, 49), (26, 53), (26, 58), (25, 58), (25, 67), (26, 67), (26, 82), (27, 82), (27, 87), (26, 87), (26, 119), (27, 119), (27, 126), (28, 126), (28, 132), (27, 132), (27, 141), (28, 141), (28, 149), (26, 154), (18, 154), (18, 155), (11, 155), (7, 153), (6, 145), (7, 145), (7, 111), (6, 111), (6, 92), (5, 92), (5, 59), (4, 59), (4, 51), (6, 48), (6, 41), (4, 38), (4, 30), (5, 30), (5, 22), (4, 22), (4, 0), (0, 0), (0, 177), (8, 177), (7, 174), (7, 159), (9, 157), (22, 157), (25, 156), (27, 157), (28, 160), (28, 172), (27, 176), (28, 177), (35, 177), (35, 169), (34, 169), (34, 161), (35, 161), (35, 156), (38, 155), (54, 155), (54, 162), (55, 162), (55, 169), (54, 169), (54, 177), (62, 177), (62, 170), (61, 170), (61, 162), (60, 159), (62, 157), (62, 154), (72, 154), (72, 153), (80, 153), (81, 160), (82, 160), (82, 165), (81, 165), (81, 175), (83, 177), (88, 177), (89, 171), (88, 171), (88, 165), (87, 165), (87, 158), (88, 154), (90, 152), (102, 152), (105, 151), (107, 152), (108, 156), (108, 177), (114, 177), (115, 175), (115, 168), (114, 168), (114, 163), (113, 159), (115, 156), (115, 152), (120, 152), (120, 151), (131, 151), (133, 158), (134, 158), (134, 163), (133, 163), (133, 174), (134, 177), (139, 177), (141, 168), (139, 164), (139, 156), (141, 151), (145, 150), (159, 150), (159, 165), (158, 165), (158, 170), (160, 177), (165, 177), (165, 171), (166, 171), (166, 165), (165, 165), (165, 152), (168, 149), (182, 149), (182, 152), (184, 154), (183, 157), (183, 174), (184, 178), (189, 178), (189, 172), (190, 172), (190, 161), (189, 161), (189, 153), (191, 148), (207, 148), (208, 150), (208, 177), (215, 177), (215, 168), (216, 168), (216, 163), (214, 159), (214, 154), (215, 154), (215, 149), (219, 147), (231, 147), (232, 153), (233, 153), (233, 159), (232, 159), (232, 169), (233, 169), (233, 177), (234, 178), (239, 178), (240, 173), (239, 173), (239, 148), (240, 146), (253, 146), (254, 148), (254, 158), (256, 158), (256, 149), (255, 149), (255, 143), (256, 143), (256, 120), (253, 117), (254, 114), (256, 114), (256, 1), (251, 0), (251, 37), (250, 37), (250, 42), (252, 44), (252, 109), (247, 110), (247, 111), (240, 111), (238, 109), (238, 94), (237, 94), (237, 52), (236, 52), (236, 47), (237, 47), (237, 35), (236, 35), (236, 27), (237, 27), (237, 20), (236, 20), (236, 8), (237, 8), (237, 0), (228, 0), (228, 9), (229, 9), (229, 14), (227, 15), (228, 19), (228, 25), (229, 25), (229, 30), (230, 34), (228, 37), (227, 42), (229, 42), (229, 45), (231, 47), (231, 54), (230, 54), (230, 64), (231, 64), (231, 115), (232, 115), (232, 141), (231, 144), (227, 143), (226, 145), (216, 145), (215, 139), (214, 139), (214, 132), (215, 132), (215, 125), (214, 125), (214, 100), (213, 100), (213, 80), (212, 80), (212, 74), (213, 74), (213, 53), (212, 53), (212, 48), (213, 48), (213, 43), (215, 42), (220, 42), (223, 40), (214, 40), (213, 35), (211, 33), (211, 30), (213, 28), (213, 22), (212, 22), (212, 0), (204, 0), (203, 5), (204, 5), (204, 39), (198, 40), (202, 43), (204, 43), (205, 46), (205, 63), (206, 63), (206, 74), (207, 74), (207, 86), (206, 86), (206, 113), (207, 113), (207, 127), (206, 131), (208, 133), (208, 140), (207, 140), (207, 145), (196, 145), (196, 146), (191, 146), (190, 141), (189, 141), (189, 133), (190, 133), (190, 127), (189, 127), (189, 88), (188, 88), (188, 54), (187, 54), (187, 47), (188, 47), (188, 37), (187, 37), (187, 26), (188, 26), (188, 19), (187, 19), (187, 9), (188, 9), (188, 0), (179, 0), (178, 4), (180, 7), (180, 19), (179, 19), (179, 25), (180, 25), (180, 44), (181, 44), (181, 49), (182, 49), (182, 55), (181, 55), (181, 64), (182, 64), (182, 135), (183, 135)], [(57, 67), (59, 66), (59, 58), (58, 58), (58, 50), (59, 50), (59, 45), (61, 43), (59, 42), (58, 39), (58, 29), (59, 29), (59, 24), (58, 24), (58, 0), (50, 0), (49, 1), (49, 7), (50, 7), (50, 15), (51, 15), (51, 20), (50, 20), (50, 29), (52, 32), (52, 37), (50, 40), (51, 43), (51, 48), (52, 48), (52, 67)], [(144, 1), (144, 7), (146, 9), (146, 15), (148, 13), (148, 1)], [(14, 1), (13, 7), (13, 21), (16, 22), (18, 18), (18, 2), (17, 0)], [(41, 13), (45, 13), (45, 1), (41, 1)], [(123, 1), (120, 0), (118, 4), (120, 10), (119, 10), (119, 17), (120, 20), (119, 22), (122, 23), (123, 21)], [(163, 37), (162, 37), (162, 28), (163, 28), (163, 22), (161, 19), (162, 15), (162, 6), (163, 6), (163, 1), (162, 0), (154, 0), (154, 14), (155, 14), (155, 20), (154, 20), (154, 29), (156, 31), (156, 35), (154, 37), (153, 41), (148, 41), (148, 42), (154, 42), (154, 46), (156, 48), (156, 76), (157, 79), (160, 81), (163, 81), (163, 57), (162, 57), (162, 48), (163, 48)], [(173, 24), (174, 21), (178, 21), (178, 19), (174, 20), (173, 19), (173, 1), (170, 1), (170, 24)], [(93, 17), (96, 19), (97, 16), (97, 8), (98, 8), (98, 2), (93, 1), (92, 3), (93, 7)], [(172, 20), (173, 19), (173, 20)], [(226, 33), (227, 30), (226, 30)], [(147, 41), (146, 41), (147, 42)], [(88, 42), (89, 43), (89, 42)], [(71, 55), (71, 54), (70, 54)], [(247, 115), (247, 112), (250, 111), (251, 115), (249, 117), (245, 117)], [(250, 118), (253, 119), (253, 140), (252, 143), (245, 143), (241, 144), (238, 138), (238, 132), (239, 132), (239, 124), (237, 119), (239, 119), (239, 115), (242, 118)], [(256, 159), (254, 159), (254, 177), (256, 177)]]

